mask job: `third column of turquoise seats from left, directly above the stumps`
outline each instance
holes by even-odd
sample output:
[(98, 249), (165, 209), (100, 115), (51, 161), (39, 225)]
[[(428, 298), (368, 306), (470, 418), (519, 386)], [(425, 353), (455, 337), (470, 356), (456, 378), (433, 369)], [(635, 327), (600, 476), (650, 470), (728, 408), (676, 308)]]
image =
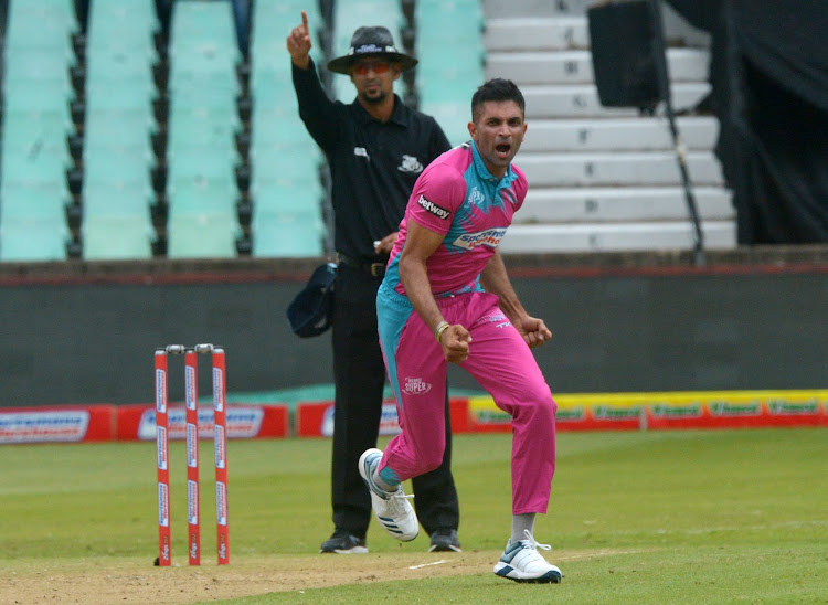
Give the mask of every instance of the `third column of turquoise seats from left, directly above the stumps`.
[(235, 35), (229, 2), (173, 6), (167, 147), (170, 257), (235, 255)]

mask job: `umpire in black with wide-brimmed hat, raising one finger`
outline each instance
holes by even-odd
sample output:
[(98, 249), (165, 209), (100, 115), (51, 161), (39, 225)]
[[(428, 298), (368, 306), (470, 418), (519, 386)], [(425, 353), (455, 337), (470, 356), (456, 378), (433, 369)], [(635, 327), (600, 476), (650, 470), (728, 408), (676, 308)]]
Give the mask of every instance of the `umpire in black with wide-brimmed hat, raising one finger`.
[[(431, 116), (394, 94), (394, 81), (416, 65), (399, 53), (385, 28), (359, 28), (346, 56), (328, 70), (349, 75), (350, 105), (331, 102), (309, 56), (308, 17), (287, 38), (299, 116), (325, 151), (331, 171), (335, 246), (339, 257), (333, 310), (335, 531), (320, 552), (365, 553), (371, 500), (358, 471), (360, 455), (375, 447), (385, 367), (376, 330), (376, 290), (385, 274), (408, 195), (423, 169), (450, 145)], [(459, 510), (450, 471), (446, 399), (446, 452), (436, 470), (414, 479), (417, 516), (429, 551), (457, 551)]]

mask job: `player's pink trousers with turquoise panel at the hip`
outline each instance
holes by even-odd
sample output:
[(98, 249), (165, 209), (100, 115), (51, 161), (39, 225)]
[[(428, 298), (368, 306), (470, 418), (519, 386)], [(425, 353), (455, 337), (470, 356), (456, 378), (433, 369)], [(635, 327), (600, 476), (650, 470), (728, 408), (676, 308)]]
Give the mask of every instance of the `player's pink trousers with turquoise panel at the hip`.
[[(471, 335), (460, 367), (512, 417), (512, 512), (546, 512), (555, 471), (555, 410), (549, 385), (523, 338), (487, 293), (438, 298), (449, 323)], [(405, 296), (385, 284), (376, 298), (380, 341), (396, 395), (402, 433), (383, 454), (380, 469), (400, 480), (437, 468), (445, 448), (448, 362), (434, 335)]]

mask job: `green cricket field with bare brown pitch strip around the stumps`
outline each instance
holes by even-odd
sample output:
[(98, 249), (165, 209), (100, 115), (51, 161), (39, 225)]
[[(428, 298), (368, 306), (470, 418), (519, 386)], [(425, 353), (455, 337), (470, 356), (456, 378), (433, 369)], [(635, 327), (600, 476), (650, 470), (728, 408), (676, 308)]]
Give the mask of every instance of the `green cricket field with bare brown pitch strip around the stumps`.
[(372, 523), (371, 554), (340, 556), (318, 554), (330, 442), (231, 442), (232, 563), (219, 567), (202, 442), (199, 569), (183, 444), (172, 569), (151, 564), (155, 444), (0, 446), (0, 603), (828, 603), (825, 428), (560, 434), (535, 528), (560, 585), (491, 573), (510, 529), (510, 443), (455, 438), (464, 553), (427, 553), (423, 534), (401, 545)]

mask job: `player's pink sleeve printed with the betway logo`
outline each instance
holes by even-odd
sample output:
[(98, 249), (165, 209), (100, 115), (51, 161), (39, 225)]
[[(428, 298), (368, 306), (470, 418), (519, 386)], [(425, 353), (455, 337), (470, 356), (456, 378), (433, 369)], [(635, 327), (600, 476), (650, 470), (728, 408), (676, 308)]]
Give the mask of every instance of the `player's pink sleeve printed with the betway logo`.
[(463, 174), (450, 166), (432, 164), (417, 179), (405, 213), (420, 226), (446, 234), (454, 213), (465, 199), (466, 180)]

